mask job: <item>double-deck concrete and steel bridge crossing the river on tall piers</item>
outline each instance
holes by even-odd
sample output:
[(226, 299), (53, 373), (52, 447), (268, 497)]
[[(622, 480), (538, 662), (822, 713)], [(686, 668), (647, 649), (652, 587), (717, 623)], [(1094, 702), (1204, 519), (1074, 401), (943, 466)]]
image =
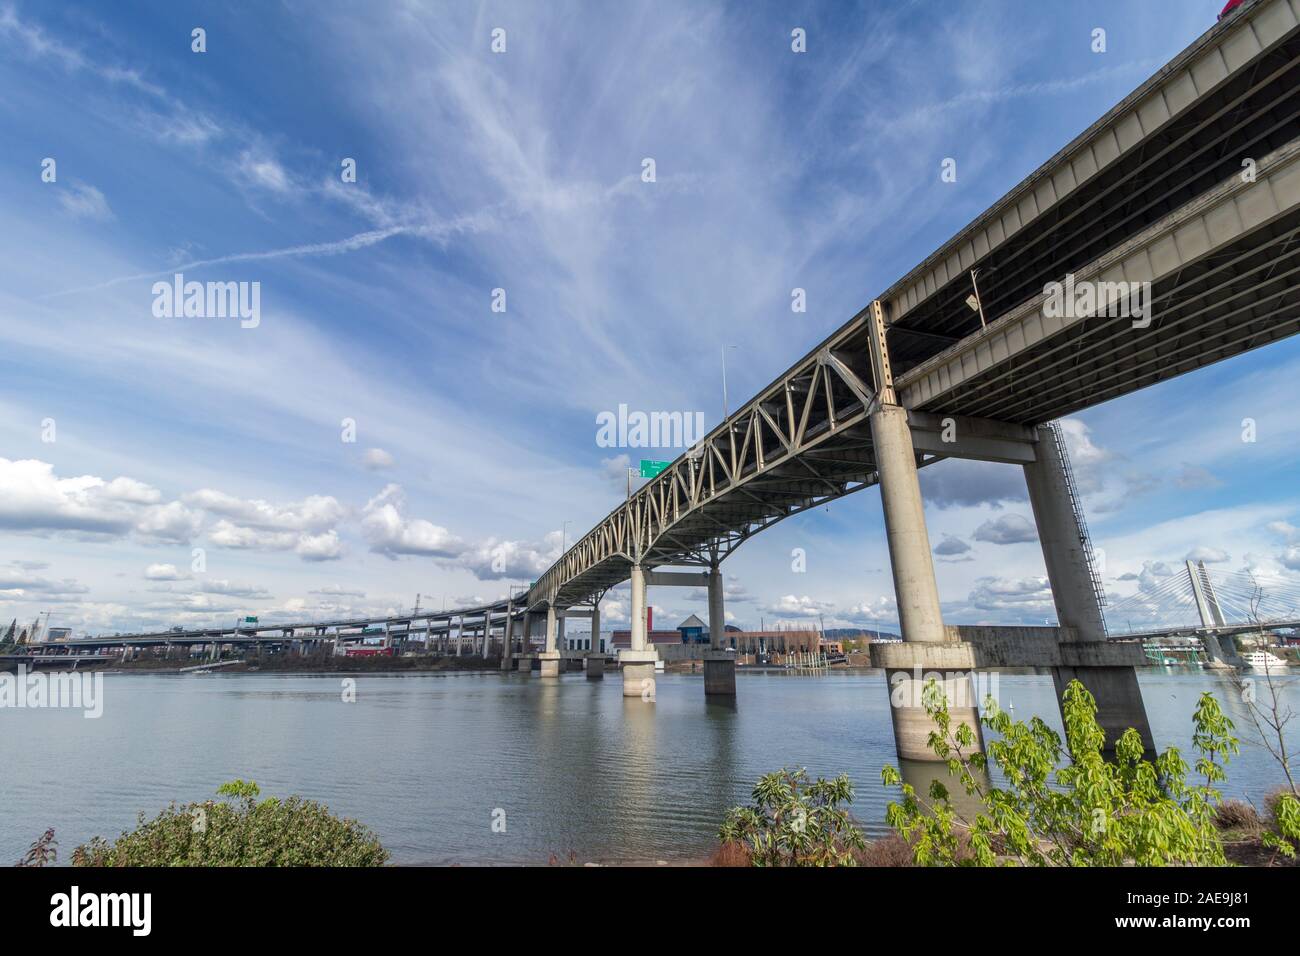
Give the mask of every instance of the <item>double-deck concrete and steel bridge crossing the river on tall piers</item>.
[[(599, 633), (601, 600), (629, 580), (623, 688), (653, 700), (647, 588), (703, 587), (706, 693), (731, 696), (722, 562), (776, 522), (879, 485), (904, 641), (875, 645), (872, 661), (889, 679), (900, 757), (932, 758), (919, 706), (926, 674), (942, 676), (954, 718), (978, 734), (970, 674), (1031, 663), (1050, 667), (1058, 691), (1082, 680), (1108, 740), (1136, 727), (1150, 748), (1134, 671), (1141, 645), (1108, 640), (1053, 421), (1300, 330), (1297, 237), (1300, 0), (1248, 0), (630, 494), (524, 593), (381, 623), (455, 646), (468, 631), (484, 648), (499, 640), (520, 654), (541, 636), (537, 672), (554, 678), (560, 623), (589, 617)], [(916, 475), (948, 458), (1023, 471), (1058, 628), (942, 620)], [(364, 623), (373, 622), (198, 636), (309, 641)]]

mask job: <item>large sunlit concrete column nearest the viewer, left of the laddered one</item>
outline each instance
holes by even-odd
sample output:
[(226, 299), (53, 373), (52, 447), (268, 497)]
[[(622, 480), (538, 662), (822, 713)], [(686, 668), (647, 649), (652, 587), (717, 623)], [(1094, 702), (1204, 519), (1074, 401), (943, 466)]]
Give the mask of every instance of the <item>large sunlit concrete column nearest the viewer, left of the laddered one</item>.
[(880, 473), (880, 501), (898, 601), (898, 624), (905, 644), (915, 645), (904, 648), (898, 656), (896, 663), (904, 667), (885, 669), (894, 747), (900, 760), (937, 760), (927, 743), (935, 722), (926, 713), (922, 698), (926, 683), (935, 679), (948, 697), (954, 730), (957, 723), (967, 724), (975, 732), (976, 745), (983, 749), (968, 656), (958, 656), (954, 658), (957, 667), (939, 672), (927, 669), (923, 659), (928, 645), (950, 641), (939, 605), (939, 584), (935, 581), (906, 408), (881, 406), (871, 416), (871, 438)]

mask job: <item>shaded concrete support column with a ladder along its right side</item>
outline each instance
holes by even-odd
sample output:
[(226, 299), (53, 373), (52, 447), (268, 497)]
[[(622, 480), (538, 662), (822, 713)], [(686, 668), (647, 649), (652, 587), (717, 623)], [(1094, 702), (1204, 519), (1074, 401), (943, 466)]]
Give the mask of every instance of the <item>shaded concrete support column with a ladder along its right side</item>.
[[(1106, 640), (1106, 624), (1092, 580), (1087, 531), (1075, 510), (1082, 503), (1071, 494), (1067, 454), (1057, 429), (1040, 425), (1036, 460), (1024, 466), (1024, 484), (1030, 489), (1043, 562), (1063, 633), (1071, 641), (1098, 643)], [(1052, 680), (1058, 700), (1071, 680), (1078, 680), (1096, 698), (1097, 724), (1106, 735), (1106, 753), (1114, 752), (1115, 741), (1130, 727), (1141, 736), (1148, 753), (1156, 752), (1136, 670), (1062, 666), (1052, 669)]]

